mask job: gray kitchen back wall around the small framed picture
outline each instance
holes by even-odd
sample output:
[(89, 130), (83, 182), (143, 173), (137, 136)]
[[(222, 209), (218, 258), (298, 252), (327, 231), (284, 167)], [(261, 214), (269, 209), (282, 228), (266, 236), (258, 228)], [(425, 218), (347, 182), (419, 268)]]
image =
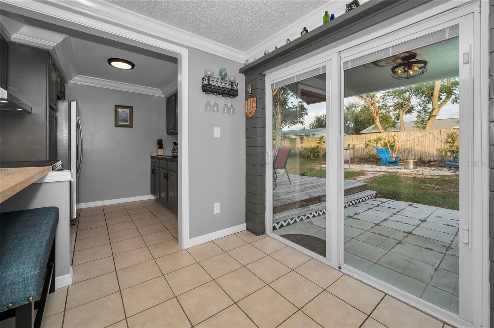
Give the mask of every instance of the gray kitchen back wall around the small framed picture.
[[(79, 102), (84, 137), (78, 203), (149, 195), (156, 139), (165, 154), (177, 141), (166, 134), (165, 98), (75, 83), (67, 84), (66, 98)], [(115, 105), (133, 106), (132, 128), (115, 127)]]

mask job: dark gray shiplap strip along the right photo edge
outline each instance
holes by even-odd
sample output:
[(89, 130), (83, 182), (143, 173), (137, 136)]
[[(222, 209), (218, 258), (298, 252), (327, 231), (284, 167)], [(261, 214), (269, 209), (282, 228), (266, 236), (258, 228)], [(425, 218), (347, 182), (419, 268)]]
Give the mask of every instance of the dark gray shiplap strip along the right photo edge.
[[(490, 133), (489, 133), (489, 144), (490, 152), (489, 152), (489, 161), (494, 163), (494, 1), (491, 1), (491, 17), (490, 17), (490, 25), (491, 25), (491, 40), (490, 40), (490, 51), (491, 51), (491, 63), (490, 63), (490, 90), (489, 90), (489, 98), (491, 98), (490, 108), (489, 108), (489, 121), (490, 124)], [(489, 259), (491, 261), (490, 265), (490, 303), (491, 303), (491, 327), (494, 327), (494, 168), (491, 166), (490, 169), (490, 190), (491, 196), (489, 201), (489, 236), (490, 238), (490, 247), (489, 247)]]

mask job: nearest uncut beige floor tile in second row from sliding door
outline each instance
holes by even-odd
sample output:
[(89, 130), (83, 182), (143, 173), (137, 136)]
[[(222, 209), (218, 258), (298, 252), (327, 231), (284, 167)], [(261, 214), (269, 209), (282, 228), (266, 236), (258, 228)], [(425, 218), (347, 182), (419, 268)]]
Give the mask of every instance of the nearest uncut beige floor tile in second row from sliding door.
[(301, 308), (324, 289), (291, 271), (269, 284), (296, 307)]

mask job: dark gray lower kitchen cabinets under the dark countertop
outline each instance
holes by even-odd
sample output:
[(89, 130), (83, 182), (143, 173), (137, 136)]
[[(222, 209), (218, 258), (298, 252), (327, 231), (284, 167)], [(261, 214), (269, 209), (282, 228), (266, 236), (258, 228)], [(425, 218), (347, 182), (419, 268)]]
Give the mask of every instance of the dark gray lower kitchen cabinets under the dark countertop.
[(166, 157), (151, 158), (151, 195), (168, 208), (178, 209), (178, 165)]

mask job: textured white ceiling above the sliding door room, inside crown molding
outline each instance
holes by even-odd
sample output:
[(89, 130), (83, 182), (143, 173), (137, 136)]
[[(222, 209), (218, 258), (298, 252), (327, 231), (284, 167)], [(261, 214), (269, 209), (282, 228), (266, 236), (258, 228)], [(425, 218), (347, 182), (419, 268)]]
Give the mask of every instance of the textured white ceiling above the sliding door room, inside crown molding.
[[(328, 0), (107, 0), (246, 52)], [(344, 3), (342, 4), (344, 6)], [(321, 20), (324, 12), (321, 13)], [(303, 26), (300, 26), (302, 31)], [(289, 38), (290, 36), (287, 36)]]

